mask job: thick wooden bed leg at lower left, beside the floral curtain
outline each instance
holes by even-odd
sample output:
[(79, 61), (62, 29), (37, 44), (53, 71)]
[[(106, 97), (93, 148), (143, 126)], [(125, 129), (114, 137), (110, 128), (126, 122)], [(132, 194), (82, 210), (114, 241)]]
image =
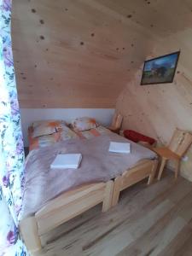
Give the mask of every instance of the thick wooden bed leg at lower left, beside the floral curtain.
[(20, 221), (20, 235), (32, 255), (38, 255), (41, 250), (41, 241), (38, 236), (38, 224), (34, 216)]

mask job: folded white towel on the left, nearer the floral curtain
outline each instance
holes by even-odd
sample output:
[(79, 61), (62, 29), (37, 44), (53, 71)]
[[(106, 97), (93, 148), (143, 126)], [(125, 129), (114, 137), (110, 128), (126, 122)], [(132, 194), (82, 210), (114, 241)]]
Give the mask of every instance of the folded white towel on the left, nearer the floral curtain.
[(82, 154), (57, 154), (50, 165), (51, 169), (77, 169), (82, 160)]

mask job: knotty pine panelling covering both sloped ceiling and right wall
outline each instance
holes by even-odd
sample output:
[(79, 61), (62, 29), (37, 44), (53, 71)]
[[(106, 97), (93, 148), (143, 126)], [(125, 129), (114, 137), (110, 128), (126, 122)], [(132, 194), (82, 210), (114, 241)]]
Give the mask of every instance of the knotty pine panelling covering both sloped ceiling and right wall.
[[(160, 143), (176, 127), (191, 130), (191, 9), (189, 0), (14, 1), (20, 107), (114, 108), (117, 101), (123, 127)], [(146, 58), (178, 49), (173, 84), (139, 85)], [(192, 180), (192, 148), (188, 156), (181, 170)]]

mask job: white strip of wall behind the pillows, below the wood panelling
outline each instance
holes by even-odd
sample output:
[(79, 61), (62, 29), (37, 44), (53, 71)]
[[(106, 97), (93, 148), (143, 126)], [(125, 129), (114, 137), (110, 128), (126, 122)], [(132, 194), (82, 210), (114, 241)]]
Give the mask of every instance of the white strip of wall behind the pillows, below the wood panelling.
[(102, 125), (110, 125), (113, 113), (113, 108), (20, 108), (24, 144), (28, 145), (27, 129), (35, 120), (64, 119), (70, 123), (77, 117), (89, 116)]

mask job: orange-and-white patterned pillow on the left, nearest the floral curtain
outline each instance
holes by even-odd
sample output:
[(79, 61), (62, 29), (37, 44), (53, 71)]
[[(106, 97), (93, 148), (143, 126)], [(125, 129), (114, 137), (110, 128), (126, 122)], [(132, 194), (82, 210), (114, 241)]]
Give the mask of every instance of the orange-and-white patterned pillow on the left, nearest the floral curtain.
[(34, 138), (50, 135), (58, 131), (63, 131), (67, 125), (65, 121), (47, 120), (34, 122), (32, 127), (32, 138)]

